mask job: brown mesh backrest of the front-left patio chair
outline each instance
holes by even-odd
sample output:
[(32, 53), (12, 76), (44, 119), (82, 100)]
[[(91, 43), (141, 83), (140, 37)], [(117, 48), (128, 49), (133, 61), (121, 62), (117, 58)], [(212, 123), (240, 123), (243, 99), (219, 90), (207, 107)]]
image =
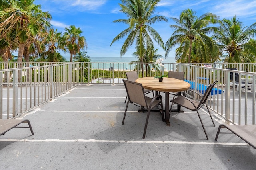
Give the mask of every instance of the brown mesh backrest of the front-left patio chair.
[(148, 108), (142, 84), (124, 79), (123, 82), (129, 101)]

